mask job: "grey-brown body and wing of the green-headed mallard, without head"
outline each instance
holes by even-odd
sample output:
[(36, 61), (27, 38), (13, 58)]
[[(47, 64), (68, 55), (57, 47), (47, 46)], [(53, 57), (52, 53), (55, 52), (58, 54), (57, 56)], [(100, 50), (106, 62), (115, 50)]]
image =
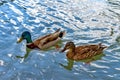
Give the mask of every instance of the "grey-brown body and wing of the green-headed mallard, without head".
[(61, 35), (64, 33), (65, 31), (60, 31), (60, 29), (58, 29), (52, 34), (40, 37), (39, 39), (33, 41), (33, 43), (39, 48), (48, 48), (50, 46), (55, 45), (61, 39)]

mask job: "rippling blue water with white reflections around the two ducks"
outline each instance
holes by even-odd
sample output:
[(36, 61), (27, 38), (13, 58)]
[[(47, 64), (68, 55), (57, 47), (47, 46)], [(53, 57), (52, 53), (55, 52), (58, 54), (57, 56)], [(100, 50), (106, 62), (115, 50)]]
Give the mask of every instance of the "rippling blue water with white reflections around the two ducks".
[[(120, 80), (119, 0), (0, 0), (0, 80)], [(25, 30), (32, 39), (61, 28), (76, 45), (108, 48), (89, 65), (57, 50), (32, 50), (26, 59)], [(68, 65), (68, 66), (67, 66)], [(65, 67), (66, 66), (66, 67)]]

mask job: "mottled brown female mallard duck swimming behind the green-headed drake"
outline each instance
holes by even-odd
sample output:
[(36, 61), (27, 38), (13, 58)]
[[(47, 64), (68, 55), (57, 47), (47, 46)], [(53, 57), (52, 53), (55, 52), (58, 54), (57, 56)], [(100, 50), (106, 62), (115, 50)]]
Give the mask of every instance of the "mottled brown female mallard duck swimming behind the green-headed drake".
[(68, 42), (61, 52), (68, 49), (66, 56), (72, 60), (83, 60), (101, 54), (106, 46), (101, 43), (98, 45), (77, 46), (73, 42)]

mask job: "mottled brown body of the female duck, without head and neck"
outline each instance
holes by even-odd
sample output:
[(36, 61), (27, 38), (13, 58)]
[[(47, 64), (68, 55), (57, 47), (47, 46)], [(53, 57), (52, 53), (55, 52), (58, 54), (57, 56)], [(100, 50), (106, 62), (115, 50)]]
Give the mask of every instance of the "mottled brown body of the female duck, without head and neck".
[(76, 55), (74, 56), (74, 60), (91, 58), (95, 55), (101, 54), (104, 48), (105, 47), (101, 46), (101, 44), (78, 46), (75, 49)]

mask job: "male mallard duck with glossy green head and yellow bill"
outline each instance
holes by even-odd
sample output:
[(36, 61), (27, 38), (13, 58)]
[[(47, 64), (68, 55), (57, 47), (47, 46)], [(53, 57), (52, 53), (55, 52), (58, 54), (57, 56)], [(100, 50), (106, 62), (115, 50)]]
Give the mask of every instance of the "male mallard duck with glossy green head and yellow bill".
[(56, 45), (58, 41), (61, 40), (64, 34), (65, 31), (60, 31), (60, 29), (58, 29), (56, 32), (52, 34), (48, 34), (46, 36), (40, 37), (32, 41), (30, 32), (25, 31), (22, 33), (21, 38), (17, 41), (17, 43), (20, 43), (22, 40), (25, 39), (27, 41), (26, 46), (28, 48), (30, 49), (39, 48), (43, 50)]

